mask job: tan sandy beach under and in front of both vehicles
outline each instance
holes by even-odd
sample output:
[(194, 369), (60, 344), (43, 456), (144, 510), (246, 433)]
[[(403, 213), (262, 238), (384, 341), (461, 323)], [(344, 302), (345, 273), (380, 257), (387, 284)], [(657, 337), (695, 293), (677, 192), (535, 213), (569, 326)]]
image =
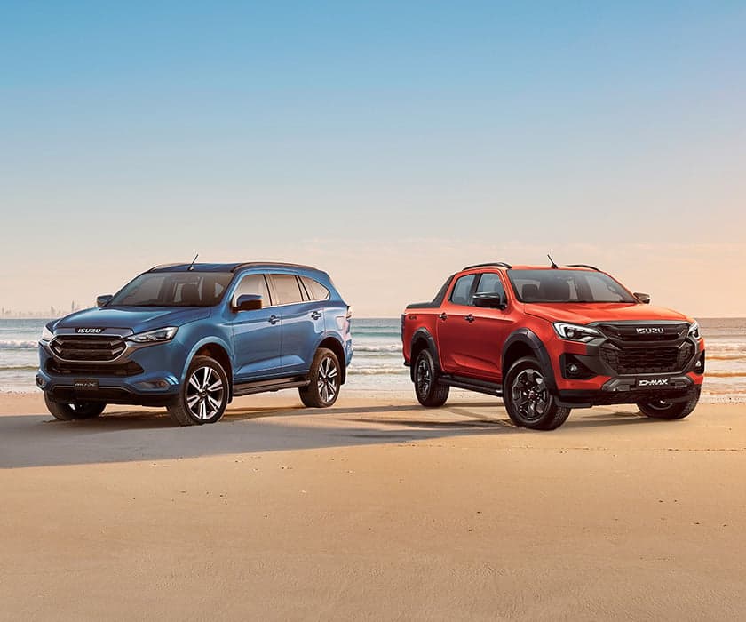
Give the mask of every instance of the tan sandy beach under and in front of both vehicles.
[(746, 407), (425, 411), (293, 394), (214, 426), (0, 398), (0, 618), (735, 619)]

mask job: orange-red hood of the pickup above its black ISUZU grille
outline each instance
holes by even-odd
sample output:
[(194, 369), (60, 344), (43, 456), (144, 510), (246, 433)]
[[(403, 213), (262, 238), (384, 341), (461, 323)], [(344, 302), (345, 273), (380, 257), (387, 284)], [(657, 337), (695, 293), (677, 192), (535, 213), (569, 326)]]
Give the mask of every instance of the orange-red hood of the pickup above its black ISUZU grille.
[(547, 322), (590, 324), (593, 322), (643, 322), (673, 320), (694, 322), (686, 315), (664, 307), (618, 302), (526, 303), (527, 314)]

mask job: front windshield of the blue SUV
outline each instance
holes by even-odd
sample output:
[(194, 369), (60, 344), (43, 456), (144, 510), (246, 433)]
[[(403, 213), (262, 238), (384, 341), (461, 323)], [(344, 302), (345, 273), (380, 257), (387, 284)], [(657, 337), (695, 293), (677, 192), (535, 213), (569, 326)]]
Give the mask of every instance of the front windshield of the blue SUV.
[(147, 272), (126, 284), (107, 307), (212, 307), (232, 278), (223, 272)]

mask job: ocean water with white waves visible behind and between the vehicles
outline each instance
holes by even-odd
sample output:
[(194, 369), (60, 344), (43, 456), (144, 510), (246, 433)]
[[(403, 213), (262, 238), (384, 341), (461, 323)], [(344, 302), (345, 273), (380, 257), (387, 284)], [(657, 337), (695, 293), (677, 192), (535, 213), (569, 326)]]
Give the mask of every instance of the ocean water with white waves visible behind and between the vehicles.
[[(0, 319), (0, 391), (36, 391), (37, 341), (48, 320)], [(703, 400), (746, 403), (746, 318), (699, 321), (707, 341)], [(411, 392), (400, 320), (353, 318), (353, 363), (345, 390)]]

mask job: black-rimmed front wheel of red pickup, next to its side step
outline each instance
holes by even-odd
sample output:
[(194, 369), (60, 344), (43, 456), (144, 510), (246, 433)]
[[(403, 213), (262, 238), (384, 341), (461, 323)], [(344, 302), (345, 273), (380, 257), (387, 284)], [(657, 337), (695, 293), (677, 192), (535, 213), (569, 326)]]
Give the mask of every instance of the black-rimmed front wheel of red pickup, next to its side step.
[(505, 376), (503, 402), (516, 426), (532, 430), (553, 430), (570, 415), (570, 409), (558, 406), (546, 386), (544, 370), (533, 356), (512, 364)]

